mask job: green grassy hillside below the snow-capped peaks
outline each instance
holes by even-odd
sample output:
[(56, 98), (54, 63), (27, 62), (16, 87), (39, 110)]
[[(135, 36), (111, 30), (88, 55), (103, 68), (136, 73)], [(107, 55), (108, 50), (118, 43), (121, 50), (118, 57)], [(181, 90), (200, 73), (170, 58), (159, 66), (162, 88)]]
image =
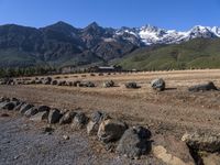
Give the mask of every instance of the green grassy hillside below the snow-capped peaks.
[(117, 64), (127, 69), (220, 68), (220, 38), (139, 48)]

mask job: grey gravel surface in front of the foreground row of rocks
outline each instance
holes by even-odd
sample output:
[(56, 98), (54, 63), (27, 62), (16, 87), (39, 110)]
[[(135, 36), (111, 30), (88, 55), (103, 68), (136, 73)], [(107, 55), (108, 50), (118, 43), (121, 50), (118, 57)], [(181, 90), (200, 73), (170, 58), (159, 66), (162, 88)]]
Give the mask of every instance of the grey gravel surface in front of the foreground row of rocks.
[[(10, 114), (11, 116), (11, 114)], [(144, 164), (103, 152), (98, 154), (80, 132), (56, 128), (50, 134), (44, 124), (24, 118), (0, 118), (0, 165), (96, 165)], [(67, 133), (69, 140), (64, 140)]]

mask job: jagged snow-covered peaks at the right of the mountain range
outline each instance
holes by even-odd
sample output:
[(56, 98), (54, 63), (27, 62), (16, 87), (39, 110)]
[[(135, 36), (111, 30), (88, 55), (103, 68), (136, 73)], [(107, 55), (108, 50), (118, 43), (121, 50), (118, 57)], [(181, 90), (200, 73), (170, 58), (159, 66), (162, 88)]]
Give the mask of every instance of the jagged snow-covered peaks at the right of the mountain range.
[[(195, 25), (189, 31), (179, 32), (146, 24), (144, 26), (133, 29), (122, 28), (118, 30), (116, 34), (124, 35), (124, 33), (135, 36), (145, 45), (174, 44), (197, 37), (220, 37), (220, 28)], [(127, 40), (125, 36), (123, 38)], [(131, 36), (129, 36), (128, 40), (131, 40)]]

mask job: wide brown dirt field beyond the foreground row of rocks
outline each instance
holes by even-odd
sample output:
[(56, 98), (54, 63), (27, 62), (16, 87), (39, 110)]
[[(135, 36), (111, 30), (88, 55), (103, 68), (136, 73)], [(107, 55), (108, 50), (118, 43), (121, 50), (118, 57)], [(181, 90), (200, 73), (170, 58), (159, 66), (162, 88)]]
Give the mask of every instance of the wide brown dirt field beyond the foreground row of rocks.
[[(163, 78), (166, 90), (151, 89), (151, 80)], [(155, 72), (105, 76), (56, 75), (57, 80), (90, 80), (95, 88), (52, 85), (0, 86), (0, 95), (16, 97), (35, 105), (61, 109), (81, 108), (86, 113), (102, 110), (130, 125), (147, 125), (154, 134), (169, 134), (180, 140), (187, 131), (220, 132), (220, 91), (189, 92), (188, 87), (213, 81), (220, 87), (220, 70)], [(103, 88), (105, 80), (117, 87)], [(136, 81), (141, 88), (127, 89)]]

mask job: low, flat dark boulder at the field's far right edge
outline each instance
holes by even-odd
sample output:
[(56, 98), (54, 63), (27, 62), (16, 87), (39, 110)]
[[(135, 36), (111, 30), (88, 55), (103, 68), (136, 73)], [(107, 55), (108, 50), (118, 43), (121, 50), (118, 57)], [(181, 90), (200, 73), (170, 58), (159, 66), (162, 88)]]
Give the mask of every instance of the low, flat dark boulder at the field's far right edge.
[(218, 90), (212, 81), (208, 84), (197, 85), (188, 88), (189, 91), (207, 91), (207, 90)]

